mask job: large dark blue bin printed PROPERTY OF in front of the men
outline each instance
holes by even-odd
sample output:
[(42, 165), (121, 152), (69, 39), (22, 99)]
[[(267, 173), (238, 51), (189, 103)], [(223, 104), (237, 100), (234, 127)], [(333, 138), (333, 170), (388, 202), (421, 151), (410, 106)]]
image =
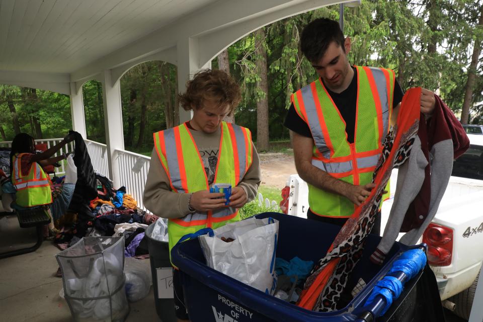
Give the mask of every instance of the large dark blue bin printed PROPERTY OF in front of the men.
[[(327, 253), (338, 232), (338, 227), (334, 225), (281, 213), (266, 212), (256, 217), (273, 217), (279, 220), (277, 257), (287, 261), (297, 256), (302, 260), (316, 262)], [(306, 310), (209, 268), (197, 239), (178, 244), (171, 255), (173, 263), (182, 273), (185, 303), (193, 322), (362, 321), (359, 317), (368, 309), (364, 305), (373, 286), (389, 271), (391, 264), (409, 249), (403, 244), (395, 243), (383, 265), (375, 265), (369, 257), (380, 238), (372, 234), (367, 237), (363, 258), (356, 265), (347, 284), (352, 289), (359, 278), (363, 278), (364, 281), (369, 281), (367, 286), (344, 308), (333, 312)], [(413, 294), (414, 297), (415, 285), (422, 272), (407, 283), (399, 299), (392, 303), (395, 309), (404, 306), (403, 310), (408, 316), (415, 307), (410, 295)], [(392, 306), (385, 315), (394, 314), (395, 309)]]

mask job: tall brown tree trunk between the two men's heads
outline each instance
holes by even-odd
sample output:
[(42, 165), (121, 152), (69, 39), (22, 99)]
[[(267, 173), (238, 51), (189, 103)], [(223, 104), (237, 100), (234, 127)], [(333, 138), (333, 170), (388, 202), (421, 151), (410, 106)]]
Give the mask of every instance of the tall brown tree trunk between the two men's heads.
[(257, 90), (262, 94), (257, 99), (257, 148), (260, 151), (266, 151), (269, 149), (268, 82), (267, 49), (265, 48), (265, 32), (263, 28), (255, 32), (255, 54), (257, 74), (260, 76), (260, 80), (257, 82)]

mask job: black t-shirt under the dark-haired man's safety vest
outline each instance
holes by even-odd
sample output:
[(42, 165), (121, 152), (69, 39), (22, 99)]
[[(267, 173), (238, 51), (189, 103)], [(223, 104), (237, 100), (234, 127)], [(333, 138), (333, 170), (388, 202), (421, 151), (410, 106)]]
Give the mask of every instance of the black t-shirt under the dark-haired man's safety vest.
[[(349, 87), (342, 93), (334, 93), (326, 87), (327, 92), (332, 97), (334, 103), (341, 112), (342, 118), (346, 122), (347, 141), (349, 143), (354, 143), (354, 129), (356, 127), (357, 105), (357, 70), (354, 66), (352, 66), (352, 69), (354, 70), (354, 77), (352, 77), (352, 82)], [(401, 100), (403, 100), (403, 96), (404, 93), (403, 90), (401, 90), (399, 83), (397, 83), (397, 81), (394, 81), (394, 95), (392, 97), (392, 106), (397, 106), (397, 104), (399, 104)], [(297, 114), (293, 103), (288, 109), (288, 113), (285, 117), (285, 122), (283, 125), (285, 125), (285, 127), (289, 128), (297, 134), (306, 137), (312, 137), (310, 128), (308, 127), (307, 123), (305, 123)]]

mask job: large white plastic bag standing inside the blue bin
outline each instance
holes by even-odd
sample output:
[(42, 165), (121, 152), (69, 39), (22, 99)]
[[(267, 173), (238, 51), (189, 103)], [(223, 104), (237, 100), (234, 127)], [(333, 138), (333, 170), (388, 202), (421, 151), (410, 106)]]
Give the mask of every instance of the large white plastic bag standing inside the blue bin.
[[(262, 292), (273, 294), (277, 284), (275, 252), (278, 220), (249, 218), (199, 237), (207, 265)], [(221, 237), (233, 238), (227, 243)]]

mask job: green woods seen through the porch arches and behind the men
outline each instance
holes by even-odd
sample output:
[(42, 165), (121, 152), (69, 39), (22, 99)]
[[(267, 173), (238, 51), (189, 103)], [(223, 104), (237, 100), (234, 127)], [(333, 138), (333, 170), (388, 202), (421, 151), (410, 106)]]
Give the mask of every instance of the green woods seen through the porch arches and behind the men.
[[(344, 9), (344, 34), (351, 37), (352, 64), (383, 66), (395, 71), (406, 90), (422, 86), (437, 90), (459, 112), (463, 103), (471, 54), (483, 40), (478, 25), (483, 0), (365, 0)], [(257, 137), (257, 101), (268, 99), (271, 140), (288, 140), (283, 126), (290, 95), (317, 75), (299, 49), (300, 34), (310, 21), (339, 19), (339, 5), (283, 19), (263, 27), (261, 42), (267, 51), (268, 92), (257, 86), (260, 58), (255, 33), (228, 47), (230, 70), (241, 85), (243, 100), (235, 112), (237, 124)], [(483, 123), (483, 64), (480, 53), (472, 89), (470, 122)], [(216, 59), (212, 67), (217, 67)], [(126, 149), (150, 153), (152, 133), (176, 124), (176, 66), (149, 61), (132, 67), (121, 77), (121, 100)], [(88, 138), (105, 143), (101, 83), (83, 86)], [(68, 96), (0, 85), (0, 139), (12, 140), (24, 131), (44, 138), (62, 137), (71, 128)]]

